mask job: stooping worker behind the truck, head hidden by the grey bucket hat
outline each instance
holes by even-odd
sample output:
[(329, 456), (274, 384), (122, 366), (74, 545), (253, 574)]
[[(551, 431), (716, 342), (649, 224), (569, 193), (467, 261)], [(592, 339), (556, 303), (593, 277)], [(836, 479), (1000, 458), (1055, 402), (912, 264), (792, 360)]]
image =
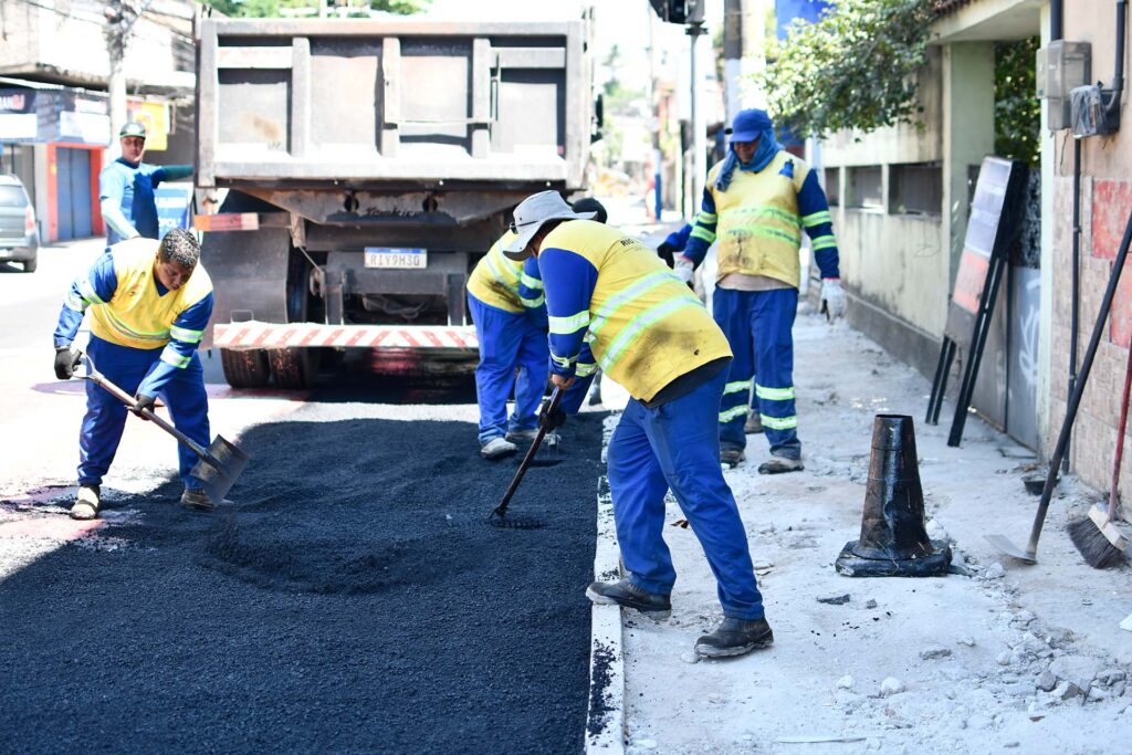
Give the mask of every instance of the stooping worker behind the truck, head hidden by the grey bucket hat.
[[(580, 205), (604, 208), (595, 199)], [(483, 458), (511, 456), (538, 434), (539, 405), (547, 386), (547, 307), (534, 258), (517, 263), (501, 249), (515, 233), (506, 231), (477, 263), (468, 278), (468, 307), (480, 344), (475, 397), (480, 409), (479, 444)], [(507, 398), (515, 407), (507, 415)], [(543, 443), (555, 446), (548, 432)]]

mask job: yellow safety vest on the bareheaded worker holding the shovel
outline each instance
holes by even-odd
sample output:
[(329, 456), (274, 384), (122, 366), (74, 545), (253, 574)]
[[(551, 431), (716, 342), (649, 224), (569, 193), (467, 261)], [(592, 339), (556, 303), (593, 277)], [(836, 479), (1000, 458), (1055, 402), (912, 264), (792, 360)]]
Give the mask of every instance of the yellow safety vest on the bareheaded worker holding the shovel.
[[(212, 280), (198, 263), (185, 285), (158, 295), (153, 266), (160, 244), (155, 239), (131, 239), (111, 247), (118, 289), (110, 301), (92, 299), (95, 304), (91, 308), (91, 333), (121, 346), (161, 349), (169, 343), (173, 323), (181, 312), (212, 293)], [(199, 335), (196, 337), (199, 340)], [(192, 341), (180, 336), (178, 340)]]

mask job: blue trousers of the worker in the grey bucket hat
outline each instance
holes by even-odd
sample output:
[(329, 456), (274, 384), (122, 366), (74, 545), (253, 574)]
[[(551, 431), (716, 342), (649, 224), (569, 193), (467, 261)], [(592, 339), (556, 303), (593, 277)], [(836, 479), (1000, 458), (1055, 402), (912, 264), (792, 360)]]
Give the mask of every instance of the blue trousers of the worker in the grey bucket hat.
[(747, 533), (719, 465), (718, 418), (727, 370), (692, 393), (649, 409), (631, 398), (609, 440), (609, 489), (629, 580), (668, 594), (676, 569), (664, 543), (669, 488), (707, 557), (723, 615), (763, 618)]

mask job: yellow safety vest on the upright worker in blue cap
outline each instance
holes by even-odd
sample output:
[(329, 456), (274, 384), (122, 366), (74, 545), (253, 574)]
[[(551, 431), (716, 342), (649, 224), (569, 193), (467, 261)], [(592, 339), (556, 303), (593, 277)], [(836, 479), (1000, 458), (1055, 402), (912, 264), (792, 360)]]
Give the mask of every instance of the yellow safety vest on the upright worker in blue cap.
[[(792, 178), (781, 173), (791, 161)], [(736, 168), (727, 191), (718, 191), (715, 177), (721, 165), (718, 163), (707, 173), (707, 187), (715, 199), (718, 216), (719, 272), (715, 280), (721, 281), (731, 273), (765, 275), (797, 289), (800, 283), (798, 248), (801, 246), (798, 191), (809, 165), (780, 151), (757, 173)]]

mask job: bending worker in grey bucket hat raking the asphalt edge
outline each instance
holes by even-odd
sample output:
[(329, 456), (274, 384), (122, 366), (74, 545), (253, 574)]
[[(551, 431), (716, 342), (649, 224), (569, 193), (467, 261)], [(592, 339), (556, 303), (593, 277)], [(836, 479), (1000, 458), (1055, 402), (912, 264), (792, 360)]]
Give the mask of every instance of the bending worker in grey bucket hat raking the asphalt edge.
[[(504, 254), (538, 259), (550, 325), (550, 379), (572, 388), (592, 353), (631, 400), (609, 440), (608, 478), (628, 577), (586, 595), (653, 618), (671, 612), (676, 570), (662, 530), (672, 490), (715, 575), (722, 623), (696, 641), (707, 658), (773, 641), (746, 531), (719, 464), (718, 413), (731, 351), (700, 300), (652, 249), (577, 213), (555, 191), (515, 208)], [(563, 402), (557, 427), (577, 403)]]

